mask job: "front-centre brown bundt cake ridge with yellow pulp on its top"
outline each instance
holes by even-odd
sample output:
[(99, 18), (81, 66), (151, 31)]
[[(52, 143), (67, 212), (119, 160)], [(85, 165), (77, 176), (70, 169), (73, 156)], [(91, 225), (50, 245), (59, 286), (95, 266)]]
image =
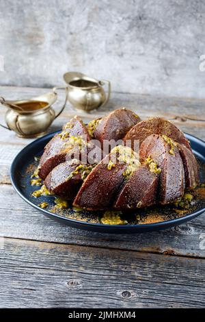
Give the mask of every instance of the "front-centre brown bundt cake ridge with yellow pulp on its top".
[(111, 208), (120, 186), (139, 166), (133, 150), (115, 147), (87, 176), (74, 199), (74, 206), (87, 210)]

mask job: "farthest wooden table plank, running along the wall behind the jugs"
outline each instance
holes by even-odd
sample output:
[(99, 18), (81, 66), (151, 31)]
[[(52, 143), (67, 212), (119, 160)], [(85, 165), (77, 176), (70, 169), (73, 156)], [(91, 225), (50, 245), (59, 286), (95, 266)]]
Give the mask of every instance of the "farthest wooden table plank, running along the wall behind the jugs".
[[(36, 95), (41, 95), (44, 92), (48, 91), (48, 88), (21, 88), (12, 86), (0, 86), (0, 95), (7, 99), (29, 98)], [(64, 90), (59, 90), (58, 93), (59, 99), (56, 105), (61, 106), (61, 103), (63, 103), (64, 101)], [(132, 108), (136, 111), (140, 110), (141, 113), (143, 113), (143, 115), (145, 116), (165, 113), (172, 119), (175, 119), (176, 116), (183, 116), (184, 114), (184, 116), (187, 115), (189, 119), (205, 120), (204, 103), (204, 99), (162, 97), (157, 95), (112, 92), (111, 99), (107, 106), (104, 106), (103, 108), (92, 112), (92, 114), (102, 115), (105, 114), (105, 112), (112, 110), (113, 108), (127, 106), (128, 108)], [(70, 106), (69, 102), (68, 106), (66, 107), (66, 112), (75, 112)], [(82, 114), (84, 116), (86, 115), (83, 112), (79, 112), (79, 114)]]

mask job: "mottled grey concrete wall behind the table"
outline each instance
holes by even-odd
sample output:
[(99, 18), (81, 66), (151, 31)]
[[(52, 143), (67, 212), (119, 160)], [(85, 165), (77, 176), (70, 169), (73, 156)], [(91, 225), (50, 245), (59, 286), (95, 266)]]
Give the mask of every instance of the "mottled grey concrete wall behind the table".
[(0, 12), (1, 85), (81, 71), (117, 91), (205, 97), (203, 0), (0, 0)]

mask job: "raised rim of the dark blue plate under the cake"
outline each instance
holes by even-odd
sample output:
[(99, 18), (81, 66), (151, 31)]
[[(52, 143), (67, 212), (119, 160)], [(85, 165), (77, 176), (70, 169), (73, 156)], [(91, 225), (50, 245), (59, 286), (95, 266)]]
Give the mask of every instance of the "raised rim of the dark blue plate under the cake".
[[(195, 218), (196, 216), (199, 216), (200, 214), (202, 214), (202, 212), (205, 211), (205, 207), (203, 207), (195, 212), (191, 212), (191, 214), (187, 214), (186, 216), (182, 216), (182, 217), (167, 220), (167, 221), (159, 221), (156, 223), (146, 223), (146, 224), (140, 224), (140, 225), (139, 224), (135, 224), (135, 225), (105, 225), (102, 223), (89, 223), (87, 221), (78, 221), (77, 219), (71, 219), (68, 217), (60, 216), (59, 214), (55, 214), (53, 212), (49, 212), (49, 210), (40, 208), (38, 205), (36, 205), (32, 201), (29, 201), (29, 199), (27, 199), (27, 197), (25, 197), (25, 195), (23, 195), (20, 188), (18, 188), (18, 184), (16, 183), (16, 180), (14, 179), (14, 170), (15, 170), (15, 167), (18, 165), (18, 161), (19, 161), (21, 155), (24, 154), (27, 149), (30, 149), (32, 147), (32, 145), (36, 145), (40, 141), (46, 140), (46, 138), (53, 137), (55, 134), (59, 133), (60, 131), (61, 131), (61, 129), (58, 129), (54, 132), (50, 132), (48, 134), (45, 134), (41, 138), (37, 138), (36, 140), (33, 140), (31, 143), (29, 143), (28, 145), (23, 147), (23, 149), (21, 149), (17, 153), (17, 155), (12, 160), (12, 164), (10, 166), (10, 179), (11, 179), (12, 186), (13, 186), (14, 190), (16, 191), (16, 193), (18, 193), (18, 195), (24, 201), (26, 201), (30, 206), (32, 206), (33, 208), (36, 208), (37, 210), (42, 212), (44, 215), (49, 216), (49, 218), (54, 219), (54, 220), (56, 219), (59, 221), (66, 221), (66, 223), (70, 223), (70, 225), (72, 225), (72, 227), (81, 228), (81, 229), (85, 229), (85, 230), (87, 228), (88, 229), (90, 228), (90, 230), (96, 229), (96, 231), (98, 230), (98, 232), (100, 232), (100, 231), (103, 232), (103, 230), (107, 230), (107, 233), (111, 233), (111, 232), (113, 232), (113, 230), (115, 230), (116, 232), (118, 232), (118, 230), (120, 230), (121, 232), (123, 231), (124, 233), (132, 230), (133, 233), (135, 233), (135, 232), (137, 233), (142, 230), (148, 232), (148, 231), (156, 230), (156, 229), (161, 230), (166, 227), (174, 227), (175, 224), (179, 225), (180, 223), (183, 223), (184, 221), (190, 221), (191, 219)], [(205, 149), (204, 140), (197, 138), (196, 136), (193, 136), (192, 134), (188, 134), (187, 132), (183, 132), (183, 133), (186, 136), (186, 138), (188, 138), (188, 140), (189, 140), (189, 138), (191, 138), (192, 140), (195, 141), (195, 143), (200, 143), (200, 145), (204, 146), (204, 149)], [(81, 226), (81, 227), (79, 227), (79, 226)]]

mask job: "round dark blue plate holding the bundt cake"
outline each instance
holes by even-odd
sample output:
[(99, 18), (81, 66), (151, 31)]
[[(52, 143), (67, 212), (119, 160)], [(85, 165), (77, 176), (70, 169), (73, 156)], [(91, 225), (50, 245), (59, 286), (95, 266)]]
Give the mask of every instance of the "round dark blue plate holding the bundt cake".
[[(31, 196), (34, 190), (38, 190), (40, 187), (33, 187), (30, 184), (30, 176), (31, 171), (33, 171), (33, 167), (35, 166), (34, 156), (41, 156), (44, 146), (51, 140), (51, 138), (57, 132), (53, 132), (51, 134), (47, 134), (42, 138), (38, 138), (33, 141), (31, 144), (27, 145), (22, 151), (18, 153), (11, 166), (11, 179), (12, 185), (14, 189), (22, 197), (29, 205), (38, 209), (44, 215), (49, 216), (51, 219), (56, 221), (60, 221), (65, 225), (70, 225), (72, 227), (80, 228), (83, 230), (92, 230), (94, 232), (105, 232), (105, 233), (137, 233), (137, 232), (150, 232), (154, 230), (161, 230), (168, 227), (174, 227), (176, 225), (180, 225), (186, 221), (190, 221), (191, 219), (199, 216), (205, 210), (205, 201), (200, 200), (195, 204), (195, 207), (189, 211), (189, 214), (184, 216), (179, 216), (173, 210), (173, 207), (160, 207), (156, 210), (153, 208), (147, 208), (146, 210), (140, 210), (136, 217), (136, 212), (132, 214), (124, 214), (124, 219), (128, 220), (127, 225), (103, 225), (100, 223), (100, 213), (94, 212), (76, 212), (70, 208), (67, 210), (55, 211), (55, 197), (52, 196), (42, 196), (39, 198), (34, 198)], [(191, 136), (190, 134), (186, 134), (186, 137), (191, 143), (191, 147), (197, 160), (200, 164), (200, 176), (201, 182), (205, 181), (205, 143)], [(40, 208), (38, 205), (46, 201), (49, 203), (49, 207), (46, 209)], [(159, 221), (156, 223), (149, 223), (148, 221), (139, 221), (139, 215), (142, 217), (148, 218), (148, 216), (152, 216), (154, 211), (158, 214), (162, 214), (163, 221)], [(136, 221), (136, 218), (138, 220)], [(144, 223), (143, 223), (144, 222)], [(139, 224), (140, 223), (140, 224)]]

